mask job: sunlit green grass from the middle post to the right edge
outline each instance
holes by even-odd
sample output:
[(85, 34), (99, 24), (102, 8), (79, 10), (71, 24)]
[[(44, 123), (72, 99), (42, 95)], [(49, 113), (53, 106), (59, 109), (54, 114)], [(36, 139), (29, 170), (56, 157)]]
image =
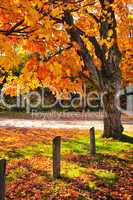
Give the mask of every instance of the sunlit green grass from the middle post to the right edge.
[[(131, 133), (127, 133), (131, 136)], [(78, 153), (78, 154), (88, 154), (89, 152), (89, 135), (81, 136), (75, 140), (68, 140), (62, 142), (62, 154), (65, 153)], [(96, 132), (96, 149), (97, 153), (105, 153), (116, 155), (117, 157), (123, 157), (123, 153), (128, 150), (133, 150), (133, 146), (130, 143), (121, 142), (113, 139), (103, 139), (101, 138), (101, 132)]]

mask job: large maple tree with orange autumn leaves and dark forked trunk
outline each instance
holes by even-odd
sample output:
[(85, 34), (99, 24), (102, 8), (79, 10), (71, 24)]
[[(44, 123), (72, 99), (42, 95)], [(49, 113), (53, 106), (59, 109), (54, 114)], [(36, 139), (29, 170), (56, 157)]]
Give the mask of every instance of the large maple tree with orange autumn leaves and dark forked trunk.
[[(115, 98), (132, 82), (129, 0), (3, 0), (0, 66), (13, 93), (39, 86), (82, 93), (84, 79), (103, 95), (104, 137), (120, 137)], [(22, 59), (27, 55), (26, 59)], [(19, 71), (17, 75), (14, 68)], [(5, 74), (1, 75), (1, 82)]]

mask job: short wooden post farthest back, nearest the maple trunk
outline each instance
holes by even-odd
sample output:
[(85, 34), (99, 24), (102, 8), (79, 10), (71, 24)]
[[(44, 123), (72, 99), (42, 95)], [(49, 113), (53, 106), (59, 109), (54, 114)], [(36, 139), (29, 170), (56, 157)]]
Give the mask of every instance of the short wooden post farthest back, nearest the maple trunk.
[(90, 154), (93, 156), (96, 154), (95, 128), (94, 127), (92, 127), (90, 129)]

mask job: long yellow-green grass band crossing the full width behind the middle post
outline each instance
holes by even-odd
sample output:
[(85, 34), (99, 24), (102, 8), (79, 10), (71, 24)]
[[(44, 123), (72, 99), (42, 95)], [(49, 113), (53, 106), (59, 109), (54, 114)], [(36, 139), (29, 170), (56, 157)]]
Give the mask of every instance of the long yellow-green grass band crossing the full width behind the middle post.
[[(131, 135), (127, 133), (127, 135)], [(129, 150), (133, 150), (132, 144), (126, 142), (120, 142), (113, 139), (101, 138), (101, 133), (96, 132), (96, 150), (97, 153), (111, 154), (119, 158), (122, 158), (124, 153)], [(61, 154), (86, 155), (89, 153), (89, 135), (81, 136), (78, 139), (69, 139), (62, 141)], [(0, 158), (6, 158), (7, 160), (14, 158), (31, 158), (32, 156), (49, 156), (52, 157), (52, 144), (39, 143), (32, 146), (25, 146), (20, 149), (13, 149), (7, 152), (1, 151)], [(98, 161), (102, 159), (99, 155), (95, 157)]]

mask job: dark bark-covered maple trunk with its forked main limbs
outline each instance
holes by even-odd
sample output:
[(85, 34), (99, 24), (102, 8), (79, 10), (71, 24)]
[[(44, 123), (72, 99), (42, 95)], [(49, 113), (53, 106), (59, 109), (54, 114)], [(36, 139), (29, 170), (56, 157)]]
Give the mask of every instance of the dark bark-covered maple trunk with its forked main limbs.
[[(120, 138), (122, 136), (123, 127), (121, 124), (121, 113), (117, 108), (116, 95), (121, 86), (120, 61), (122, 54), (117, 44), (117, 23), (115, 11), (112, 4), (114, 0), (100, 0), (101, 16), (100, 23), (100, 40), (88, 36), (84, 31), (77, 28), (74, 24), (73, 16), (69, 10), (64, 12), (64, 20), (69, 26), (67, 33), (71, 41), (75, 41), (79, 45), (78, 55), (84, 62), (84, 66), (92, 75), (92, 78), (100, 92), (104, 93), (104, 133), (103, 137)], [(110, 35), (110, 31), (112, 34)], [(82, 36), (86, 37), (92, 43), (96, 56), (101, 60), (101, 69), (99, 70), (94, 63), (93, 57), (87, 48)], [(105, 42), (106, 41), (106, 42)]]

